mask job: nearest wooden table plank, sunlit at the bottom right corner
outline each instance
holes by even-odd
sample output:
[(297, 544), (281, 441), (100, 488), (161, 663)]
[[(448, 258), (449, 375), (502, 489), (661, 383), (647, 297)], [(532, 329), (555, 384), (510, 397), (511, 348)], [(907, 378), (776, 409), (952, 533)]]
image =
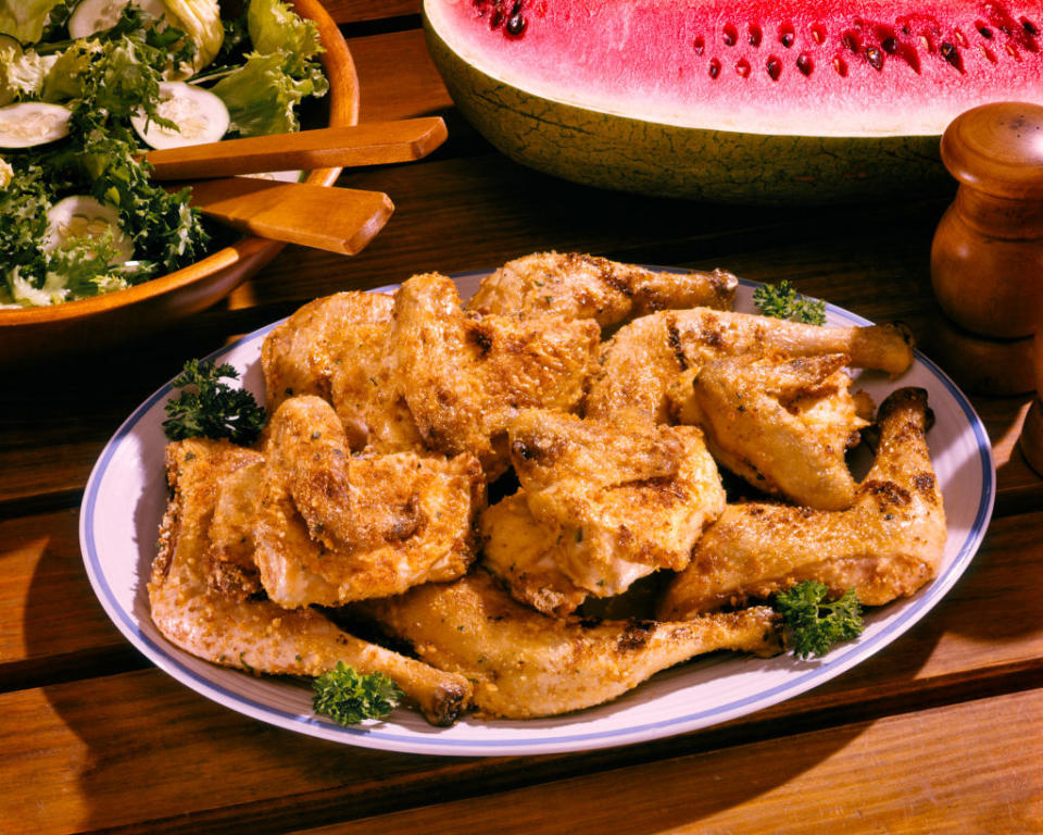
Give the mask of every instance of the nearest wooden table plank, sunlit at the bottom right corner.
[(1032, 690), (307, 833), (1039, 832), (1041, 722)]

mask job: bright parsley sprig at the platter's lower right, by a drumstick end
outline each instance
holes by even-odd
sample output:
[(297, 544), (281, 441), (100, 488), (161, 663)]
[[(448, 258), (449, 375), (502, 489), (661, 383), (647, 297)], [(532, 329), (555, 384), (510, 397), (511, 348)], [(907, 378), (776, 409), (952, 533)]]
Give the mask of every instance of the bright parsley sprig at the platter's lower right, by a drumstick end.
[(832, 601), (826, 598), (828, 590), (825, 583), (806, 579), (775, 597), (775, 609), (786, 621), (793, 653), (800, 658), (825, 656), (834, 644), (862, 634), (862, 606), (855, 589)]

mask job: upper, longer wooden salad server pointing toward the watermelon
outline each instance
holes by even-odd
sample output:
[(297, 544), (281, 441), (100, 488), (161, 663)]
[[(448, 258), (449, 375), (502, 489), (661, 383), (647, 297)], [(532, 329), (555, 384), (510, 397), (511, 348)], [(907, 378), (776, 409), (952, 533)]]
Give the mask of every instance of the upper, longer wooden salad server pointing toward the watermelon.
[(356, 167), (412, 162), (445, 141), (439, 116), (368, 122), (292, 134), (251, 136), (149, 151), (153, 179), (209, 179), (286, 169)]

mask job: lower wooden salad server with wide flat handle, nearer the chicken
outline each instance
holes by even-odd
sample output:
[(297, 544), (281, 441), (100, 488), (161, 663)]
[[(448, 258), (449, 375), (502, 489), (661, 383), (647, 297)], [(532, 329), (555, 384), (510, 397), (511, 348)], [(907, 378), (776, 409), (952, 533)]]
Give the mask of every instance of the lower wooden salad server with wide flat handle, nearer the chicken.
[(193, 183), (191, 205), (216, 221), (271, 240), (344, 256), (361, 251), (394, 211), (382, 191), (249, 177)]

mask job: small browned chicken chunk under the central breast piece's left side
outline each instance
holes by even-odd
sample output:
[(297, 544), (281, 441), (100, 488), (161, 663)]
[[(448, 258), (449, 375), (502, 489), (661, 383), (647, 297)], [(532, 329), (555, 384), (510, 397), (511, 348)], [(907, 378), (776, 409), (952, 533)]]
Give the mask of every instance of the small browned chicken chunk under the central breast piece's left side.
[(564, 618), (587, 599), (588, 593), (558, 568), (568, 562), (563, 528), (537, 522), (529, 512), (525, 490), (486, 508), (479, 522), (483, 543), (480, 563), (500, 578), (515, 600)]

